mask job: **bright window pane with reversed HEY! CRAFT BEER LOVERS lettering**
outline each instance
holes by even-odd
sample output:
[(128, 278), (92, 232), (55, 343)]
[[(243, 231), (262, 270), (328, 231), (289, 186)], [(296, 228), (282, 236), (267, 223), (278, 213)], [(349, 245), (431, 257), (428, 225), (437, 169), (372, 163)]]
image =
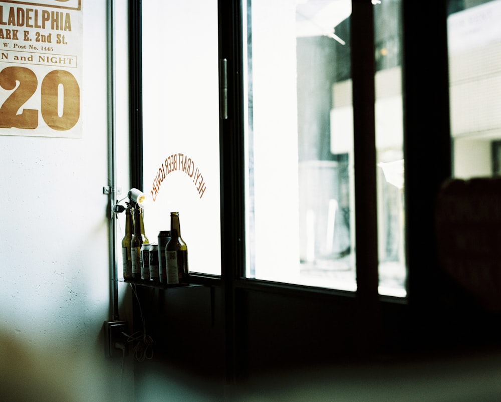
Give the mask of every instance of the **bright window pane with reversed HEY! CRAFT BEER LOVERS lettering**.
[(179, 212), (190, 272), (220, 269), (217, 1), (142, 1), (146, 235)]

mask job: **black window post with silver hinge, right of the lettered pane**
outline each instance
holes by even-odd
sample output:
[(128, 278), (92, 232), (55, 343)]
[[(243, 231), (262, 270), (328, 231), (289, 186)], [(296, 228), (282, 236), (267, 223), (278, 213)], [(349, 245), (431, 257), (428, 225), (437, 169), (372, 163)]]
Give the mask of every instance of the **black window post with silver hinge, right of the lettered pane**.
[[(227, 116), (219, 123), (221, 179), (221, 279), (224, 306), (226, 381), (241, 370), (238, 360), (237, 304), (234, 282), (244, 267), (244, 178), (242, 127), (241, 3), (218, 2), (219, 60), (226, 60)], [(221, 85), (221, 83), (220, 83)], [(222, 100), (220, 99), (220, 102)], [(221, 103), (220, 103), (221, 107)], [(231, 189), (231, 190), (229, 190)]]

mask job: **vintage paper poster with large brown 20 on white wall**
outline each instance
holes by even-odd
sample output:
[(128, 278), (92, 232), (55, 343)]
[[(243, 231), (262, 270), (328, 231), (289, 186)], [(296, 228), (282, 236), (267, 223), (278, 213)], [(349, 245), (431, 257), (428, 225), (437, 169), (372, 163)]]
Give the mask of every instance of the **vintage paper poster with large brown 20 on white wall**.
[(82, 137), (82, 2), (0, 2), (0, 135)]

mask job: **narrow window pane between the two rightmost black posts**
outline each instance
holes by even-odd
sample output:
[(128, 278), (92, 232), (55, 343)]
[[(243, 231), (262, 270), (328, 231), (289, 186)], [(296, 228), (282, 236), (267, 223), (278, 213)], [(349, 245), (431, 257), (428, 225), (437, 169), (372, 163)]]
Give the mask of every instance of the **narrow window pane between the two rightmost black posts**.
[[(374, 3), (374, 2), (373, 2)], [(401, 0), (374, 7), (379, 293), (406, 296)]]

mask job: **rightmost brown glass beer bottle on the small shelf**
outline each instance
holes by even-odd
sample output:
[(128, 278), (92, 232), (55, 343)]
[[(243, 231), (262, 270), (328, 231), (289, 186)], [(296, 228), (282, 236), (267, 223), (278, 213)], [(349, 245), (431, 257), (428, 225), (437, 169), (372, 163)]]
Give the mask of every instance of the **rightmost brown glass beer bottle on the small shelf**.
[[(167, 284), (188, 284), (188, 247), (181, 238), (179, 213), (170, 213), (171, 238), (165, 246), (165, 258), (167, 265)], [(177, 271), (177, 282), (175, 272)]]

